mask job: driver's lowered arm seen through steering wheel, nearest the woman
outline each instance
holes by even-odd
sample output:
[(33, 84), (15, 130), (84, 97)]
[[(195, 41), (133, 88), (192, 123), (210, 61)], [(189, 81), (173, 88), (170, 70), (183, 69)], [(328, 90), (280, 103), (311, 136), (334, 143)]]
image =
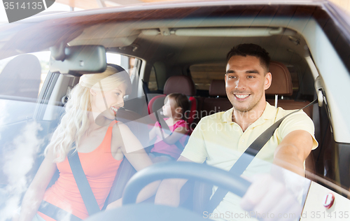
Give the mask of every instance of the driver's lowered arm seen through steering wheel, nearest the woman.
[[(180, 156), (179, 162), (193, 162), (186, 157)], [(186, 179), (166, 179), (160, 183), (158, 192), (155, 194), (155, 204), (177, 207), (180, 204), (180, 190), (187, 182)]]

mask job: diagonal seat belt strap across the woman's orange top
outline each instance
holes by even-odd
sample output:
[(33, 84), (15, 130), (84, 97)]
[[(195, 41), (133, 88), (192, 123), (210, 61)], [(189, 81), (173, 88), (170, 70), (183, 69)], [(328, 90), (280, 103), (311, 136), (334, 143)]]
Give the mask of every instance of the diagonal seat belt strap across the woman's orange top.
[[(73, 143), (74, 145), (74, 143)], [(73, 173), (74, 179), (76, 180), (76, 185), (78, 186), (81, 197), (83, 198), (84, 204), (87, 209), (87, 213), (92, 215), (100, 211), (99, 204), (97, 204), (96, 198), (94, 198), (94, 193), (91, 190), (90, 184), (87, 181), (83, 167), (81, 166), (78, 152), (73, 152), (68, 157), (69, 165), (71, 166), (71, 171)]]

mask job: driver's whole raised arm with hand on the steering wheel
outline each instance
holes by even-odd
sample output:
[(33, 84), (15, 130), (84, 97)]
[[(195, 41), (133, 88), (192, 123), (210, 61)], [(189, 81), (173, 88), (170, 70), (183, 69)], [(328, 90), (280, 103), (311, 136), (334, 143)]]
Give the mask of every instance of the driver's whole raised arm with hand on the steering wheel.
[[(288, 133), (274, 152), (274, 164), (271, 174), (256, 176), (246, 194), (241, 199), (241, 207), (256, 213), (284, 213), (300, 215), (302, 206), (297, 201), (295, 191), (286, 187), (287, 177), (294, 183), (304, 183), (304, 160), (311, 152), (313, 138), (308, 131), (295, 130)], [(283, 169), (300, 176), (288, 174)], [(288, 175), (287, 175), (288, 174)], [(281, 180), (282, 179), (282, 180)], [(298, 190), (299, 188), (296, 187)], [(300, 191), (300, 190), (299, 190)]]

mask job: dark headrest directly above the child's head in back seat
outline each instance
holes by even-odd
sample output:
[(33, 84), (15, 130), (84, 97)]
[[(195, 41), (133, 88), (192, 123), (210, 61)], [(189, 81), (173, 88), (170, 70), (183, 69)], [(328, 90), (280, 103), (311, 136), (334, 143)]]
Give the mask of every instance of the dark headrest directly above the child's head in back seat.
[(164, 94), (181, 93), (186, 96), (195, 96), (195, 83), (188, 76), (172, 76), (164, 85)]

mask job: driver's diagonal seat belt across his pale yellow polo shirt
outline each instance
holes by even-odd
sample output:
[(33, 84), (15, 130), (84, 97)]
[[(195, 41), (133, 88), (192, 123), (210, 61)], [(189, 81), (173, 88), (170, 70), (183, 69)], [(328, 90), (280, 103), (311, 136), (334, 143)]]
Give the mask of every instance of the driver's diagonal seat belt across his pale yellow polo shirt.
[[(241, 176), (241, 174), (246, 170), (249, 164), (251, 164), (251, 161), (254, 159), (254, 157), (258, 154), (258, 152), (262, 149), (262, 147), (269, 141), (269, 139), (274, 134), (274, 131), (279, 127), (281, 122), (288, 117), (289, 115), (292, 115), (293, 113), (297, 113), (298, 111), (307, 108), (308, 106), (311, 106), (312, 104), (316, 104), (317, 99), (312, 101), (307, 106), (304, 106), (303, 108), (300, 108), (299, 110), (295, 110), (292, 113), (289, 113), (288, 115), (282, 117), (279, 121), (272, 124), (269, 128), (267, 128), (265, 131), (258, 136), (258, 138), (249, 145), (249, 147), (244, 151), (244, 153), (237, 159), (237, 162), (233, 164), (233, 166), (230, 169), (230, 173), (235, 174), (235, 176)], [(212, 213), (214, 209), (220, 204), (220, 202), (223, 200), (223, 197), (228, 194), (228, 190), (225, 190), (221, 187), (218, 187), (216, 192), (214, 192), (213, 197), (209, 200), (206, 211), (208, 213)]]

